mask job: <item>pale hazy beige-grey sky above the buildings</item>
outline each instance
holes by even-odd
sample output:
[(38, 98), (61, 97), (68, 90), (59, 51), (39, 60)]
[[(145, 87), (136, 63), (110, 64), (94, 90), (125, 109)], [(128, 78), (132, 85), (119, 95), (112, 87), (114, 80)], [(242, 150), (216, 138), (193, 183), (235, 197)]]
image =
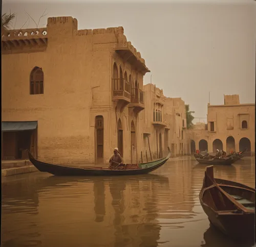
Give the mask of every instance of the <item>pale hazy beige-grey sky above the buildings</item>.
[[(212, 105), (224, 104), (223, 94), (255, 103), (256, 2), (154, 2), (3, 0), (3, 13), (17, 14), (15, 29), (26, 22), (25, 11), (37, 22), (45, 9), (39, 27), (52, 16), (73, 16), (78, 29), (122, 26), (151, 70), (144, 84), (152, 75), (164, 95), (182, 97), (196, 117), (206, 117), (209, 91)], [(34, 27), (32, 19), (24, 26)]]

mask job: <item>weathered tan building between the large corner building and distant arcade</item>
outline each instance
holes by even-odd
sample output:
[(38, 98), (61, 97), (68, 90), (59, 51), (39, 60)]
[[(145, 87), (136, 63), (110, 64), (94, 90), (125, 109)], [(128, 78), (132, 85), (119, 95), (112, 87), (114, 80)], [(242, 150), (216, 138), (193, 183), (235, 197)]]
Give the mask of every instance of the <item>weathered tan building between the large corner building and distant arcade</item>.
[(169, 146), (172, 156), (189, 153), (186, 135), (186, 110), (181, 98), (169, 98), (154, 84), (144, 85), (145, 110), (140, 115), (143, 147), (147, 156), (161, 158)]

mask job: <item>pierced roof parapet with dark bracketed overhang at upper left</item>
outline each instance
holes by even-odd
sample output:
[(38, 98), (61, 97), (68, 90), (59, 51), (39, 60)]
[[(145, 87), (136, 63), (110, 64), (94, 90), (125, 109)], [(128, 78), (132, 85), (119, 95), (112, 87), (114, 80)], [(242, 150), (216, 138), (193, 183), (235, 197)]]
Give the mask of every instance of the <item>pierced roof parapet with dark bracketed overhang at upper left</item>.
[(3, 30), (3, 52), (22, 53), (31, 50), (45, 51), (47, 47), (47, 29)]

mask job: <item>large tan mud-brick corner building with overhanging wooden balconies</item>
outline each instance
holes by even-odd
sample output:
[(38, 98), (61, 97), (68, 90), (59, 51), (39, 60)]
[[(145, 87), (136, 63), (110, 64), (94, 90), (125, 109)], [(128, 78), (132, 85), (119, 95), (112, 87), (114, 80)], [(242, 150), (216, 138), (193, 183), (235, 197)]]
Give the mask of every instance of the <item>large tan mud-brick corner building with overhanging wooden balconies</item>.
[(2, 33), (2, 157), (106, 163), (143, 145), (144, 59), (122, 27), (77, 30), (72, 17)]

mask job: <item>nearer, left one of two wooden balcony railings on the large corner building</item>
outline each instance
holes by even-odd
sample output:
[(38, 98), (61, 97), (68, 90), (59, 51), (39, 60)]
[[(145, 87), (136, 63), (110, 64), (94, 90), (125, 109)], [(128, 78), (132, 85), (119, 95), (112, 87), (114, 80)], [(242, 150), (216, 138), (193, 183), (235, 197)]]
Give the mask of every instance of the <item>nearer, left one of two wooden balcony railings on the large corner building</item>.
[(123, 78), (113, 78), (113, 101), (131, 102), (131, 84)]

